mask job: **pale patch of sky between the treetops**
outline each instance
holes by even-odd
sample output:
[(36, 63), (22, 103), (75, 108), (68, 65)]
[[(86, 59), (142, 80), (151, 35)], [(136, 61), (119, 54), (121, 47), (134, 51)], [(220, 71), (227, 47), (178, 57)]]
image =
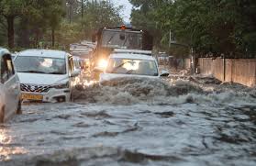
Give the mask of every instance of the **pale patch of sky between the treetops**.
[(128, 0), (111, 0), (114, 5), (116, 6), (124, 6), (124, 10), (122, 12), (122, 17), (124, 17), (124, 20), (126, 22), (129, 21), (130, 13), (131, 13), (131, 4), (128, 2)]

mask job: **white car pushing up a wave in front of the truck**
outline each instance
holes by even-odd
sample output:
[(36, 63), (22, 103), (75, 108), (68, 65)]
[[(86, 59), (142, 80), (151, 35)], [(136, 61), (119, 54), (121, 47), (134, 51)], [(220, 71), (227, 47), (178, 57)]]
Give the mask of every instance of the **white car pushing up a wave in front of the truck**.
[(100, 83), (121, 77), (160, 78), (168, 76), (169, 72), (159, 72), (155, 58), (150, 55), (117, 52), (109, 56), (106, 69), (95, 68), (100, 74)]

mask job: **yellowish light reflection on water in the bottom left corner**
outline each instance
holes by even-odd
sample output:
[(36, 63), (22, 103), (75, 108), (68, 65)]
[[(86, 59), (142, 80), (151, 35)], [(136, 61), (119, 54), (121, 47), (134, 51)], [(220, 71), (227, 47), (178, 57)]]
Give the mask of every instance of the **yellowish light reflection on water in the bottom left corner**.
[(11, 155), (26, 154), (23, 147), (13, 147), (12, 137), (8, 135), (6, 128), (0, 127), (0, 161), (10, 160)]

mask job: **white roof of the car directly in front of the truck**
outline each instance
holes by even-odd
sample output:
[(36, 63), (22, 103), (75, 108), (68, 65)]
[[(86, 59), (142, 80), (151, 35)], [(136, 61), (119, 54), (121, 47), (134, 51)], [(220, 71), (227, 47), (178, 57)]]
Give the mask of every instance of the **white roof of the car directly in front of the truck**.
[(155, 61), (155, 58), (145, 54), (113, 53), (110, 58)]

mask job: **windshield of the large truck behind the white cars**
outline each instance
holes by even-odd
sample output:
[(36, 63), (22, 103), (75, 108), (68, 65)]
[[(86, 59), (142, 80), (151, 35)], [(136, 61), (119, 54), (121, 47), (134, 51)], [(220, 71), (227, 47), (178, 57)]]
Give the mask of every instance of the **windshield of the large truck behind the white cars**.
[(104, 30), (102, 33), (102, 46), (114, 49), (142, 50), (142, 33)]

